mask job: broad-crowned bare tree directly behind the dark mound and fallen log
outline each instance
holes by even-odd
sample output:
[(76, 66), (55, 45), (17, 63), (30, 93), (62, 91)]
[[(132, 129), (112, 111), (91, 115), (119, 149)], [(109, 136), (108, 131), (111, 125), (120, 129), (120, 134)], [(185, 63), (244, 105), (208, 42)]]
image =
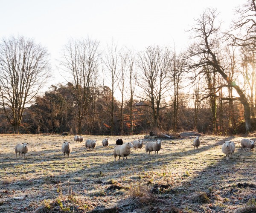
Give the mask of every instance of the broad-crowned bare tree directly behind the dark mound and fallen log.
[[(166, 98), (165, 94), (169, 86), (168, 60), (169, 55), (159, 46), (149, 46), (138, 55), (141, 75), (140, 79), (137, 78), (137, 85), (144, 92), (139, 98), (151, 109), (151, 127), (159, 127), (160, 109), (163, 109), (161, 101)], [(150, 105), (146, 103), (150, 103)]]

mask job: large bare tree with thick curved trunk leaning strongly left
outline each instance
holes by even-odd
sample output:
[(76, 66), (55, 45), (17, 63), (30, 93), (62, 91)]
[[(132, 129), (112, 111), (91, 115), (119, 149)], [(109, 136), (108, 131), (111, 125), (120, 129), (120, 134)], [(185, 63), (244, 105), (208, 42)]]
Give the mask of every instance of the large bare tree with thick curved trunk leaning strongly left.
[(216, 25), (216, 17), (216, 10), (208, 9), (199, 19), (195, 20), (196, 25), (192, 28), (195, 35), (192, 38), (197, 41), (189, 48), (189, 57), (194, 60), (190, 69), (195, 71), (203, 66), (211, 66), (214, 69), (214, 72), (218, 72), (221, 75), (227, 83), (227, 86), (232, 86), (236, 90), (239, 95), (239, 100), (244, 106), (246, 132), (250, 132), (250, 104), (244, 91), (236, 84), (236, 82), (233, 82), (228, 78), (224, 67), (221, 66), (220, 63), (221, 58), (219, 58), (220, 55), (218, 52), (221, 40), (220, 24)]

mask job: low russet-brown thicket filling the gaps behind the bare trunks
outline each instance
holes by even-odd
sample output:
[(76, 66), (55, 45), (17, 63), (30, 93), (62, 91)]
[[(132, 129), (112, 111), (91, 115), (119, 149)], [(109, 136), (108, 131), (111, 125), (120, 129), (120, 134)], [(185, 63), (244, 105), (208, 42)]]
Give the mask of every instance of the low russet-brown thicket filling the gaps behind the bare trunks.
[[(88, 111), (84, 117), (81, 126), (82, 134), (86, 135), (110, 135), (111, 134), (111, 89), (105, 86), (98, 87), (94, 90), (96, 94), (91, 94)], [(177, 131), (184, 130), (198, 130), (199, 132), (212, 133), (215, 131), (215, 122), (220, 120), (219, 106), (216, 107), (216, 118), (212, 116), (212, 108), (210, 100), (199, 102), (198, 109), (191, 105), (191, 100), (196, 101), (195, 96), (191, 94), (179, 95), (179, 109), (177, 110)], [(49, 91), (42, 96), (37, 96), (35, 103), (28, 107), (24, 112), (20, 133), (62, 133), (69, 132), (70, 134), (77, 134), (78, 124), (76, 118), (76, 97), (73, 94), (72, 83), (67, 85), (59, 84), (58, 86), (51, 86)], [(190, 103), (189, 103), (190, 102)], [(195, 103), (195, 102), (194, 102)], [(123, 129), (123, 135), (148, 133), (155, 130), (152, 125), (150, 107), (146, 106), (141, 100), (134, 100), (133, 107), (133, 132), (130, 126), (130, 111), (128, 101), (123, 105), (123, 119), (121, 119), (121, 104), (114, 99), (114, 135), (120, 135)], [(166, 103), (166, 108), (160, 110), (159, 128), (164, 132), (172, 132), (174, 107), (173, 101)], [(190, 106), (190, 107), (189, 107)], [(231, 126), (232, 121), (229, 120), (229, 103), (223, 103), (221, 107), (223, 110), (222, 121), (223, 126), (218, 125), (218, 134), (233, 134), (238, 133), (236, 127), (243, 122), (242, 106), (239, 101), (234, 104), (234, 120), (237, 122), (236, 126)], [(195, 112), (197, 110), (197, 112)], [(197, 113), (197, 118), (195, 117)], [(121, 128), (121, 120), (123, 120), (123, 127)], [(6, 121), (3, 113), (0, 117), (0, 132), (13, 133), (13, 127)], [(217, 122), (219, 124), (219, 122)], [(220, 129), (221, 128), (221, 129)]]

